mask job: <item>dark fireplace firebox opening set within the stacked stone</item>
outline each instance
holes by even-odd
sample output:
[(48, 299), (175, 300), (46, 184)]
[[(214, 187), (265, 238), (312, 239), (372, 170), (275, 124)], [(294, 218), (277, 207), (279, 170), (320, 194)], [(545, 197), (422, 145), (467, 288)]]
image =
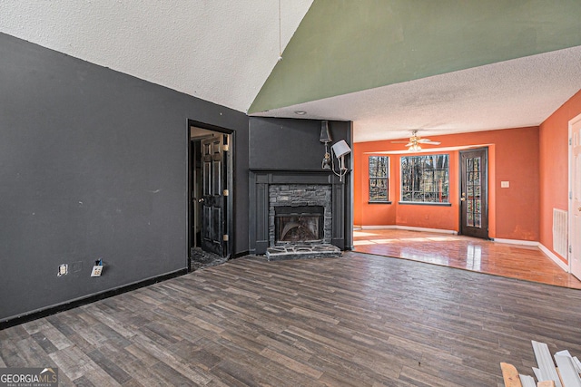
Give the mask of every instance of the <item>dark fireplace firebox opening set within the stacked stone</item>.
[(320, 242), (324, 233), (322, 206), (278, 206), (274, 215), (275, 243)]

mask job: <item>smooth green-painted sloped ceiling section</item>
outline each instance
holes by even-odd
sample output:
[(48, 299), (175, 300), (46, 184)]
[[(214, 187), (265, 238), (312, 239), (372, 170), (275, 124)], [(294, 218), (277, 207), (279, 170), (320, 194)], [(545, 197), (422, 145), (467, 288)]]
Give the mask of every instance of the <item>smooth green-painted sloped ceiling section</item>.
[(581, 45), (580, 0), (314, 0), (249, 113)]

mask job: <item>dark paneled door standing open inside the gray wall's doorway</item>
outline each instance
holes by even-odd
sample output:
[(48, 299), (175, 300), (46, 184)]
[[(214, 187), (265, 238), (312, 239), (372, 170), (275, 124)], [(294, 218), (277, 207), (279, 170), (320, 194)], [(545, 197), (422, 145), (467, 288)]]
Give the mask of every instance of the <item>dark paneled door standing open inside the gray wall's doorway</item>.
[(223, 135), (202, 140), (202, 250), (224, 254)]

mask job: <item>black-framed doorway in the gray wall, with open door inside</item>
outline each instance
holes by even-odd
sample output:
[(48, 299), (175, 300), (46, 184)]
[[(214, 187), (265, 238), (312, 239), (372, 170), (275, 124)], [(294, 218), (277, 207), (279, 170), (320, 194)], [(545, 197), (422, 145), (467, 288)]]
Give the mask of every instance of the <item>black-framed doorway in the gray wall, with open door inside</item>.
[(231, 258), (234, 132), (188, 121), (188, 267)]

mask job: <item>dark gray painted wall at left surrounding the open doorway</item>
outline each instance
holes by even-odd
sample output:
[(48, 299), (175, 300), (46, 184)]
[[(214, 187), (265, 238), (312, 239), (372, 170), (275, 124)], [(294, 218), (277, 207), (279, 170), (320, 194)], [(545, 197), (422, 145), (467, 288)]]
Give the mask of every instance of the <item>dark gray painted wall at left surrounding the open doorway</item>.
[(0, 321), (187, 267), (187, 119), (236, 131), (248, 251), (245, 114), (0, 34)]

